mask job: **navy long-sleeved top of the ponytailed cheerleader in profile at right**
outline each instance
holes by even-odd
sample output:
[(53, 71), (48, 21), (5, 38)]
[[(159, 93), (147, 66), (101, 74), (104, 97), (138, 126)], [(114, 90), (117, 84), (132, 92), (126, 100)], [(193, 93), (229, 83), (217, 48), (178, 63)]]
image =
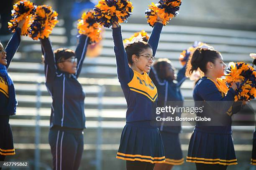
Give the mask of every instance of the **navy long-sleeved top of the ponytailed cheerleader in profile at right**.
[(195, 130), (205, 133), (231, 134), (231, 116), (241, 109), (240, 107), (230, 113), (234, 96), (235, 91), (232, 88), (224, 96), (212, 80), (202, 77), (195, 85), (193, 98), (195, 107), (203, 106), (202, 112), (197, 112), (197, 116), (209, 117), (211, 122), (197, 121)]

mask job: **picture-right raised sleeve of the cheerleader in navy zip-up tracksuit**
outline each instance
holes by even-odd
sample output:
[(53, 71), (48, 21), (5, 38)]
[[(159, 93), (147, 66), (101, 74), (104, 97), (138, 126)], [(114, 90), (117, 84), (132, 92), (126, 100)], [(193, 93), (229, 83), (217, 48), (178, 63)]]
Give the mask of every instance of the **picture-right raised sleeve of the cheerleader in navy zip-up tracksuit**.
[(76, 57), (77, 57), (77, 73), (76, 73), (76, 77), (79, 76), (81, 70), (82, 70), (82, 66), (83, 66), (83, 62), (84, 62), (84, 58), (85, 58), (85, 54), (87, 51), (87, 47), (89, 45), (90, 42), (90, 38), (87, 37), (86, 35), (79, 35), (79, 42), (76, 48)]

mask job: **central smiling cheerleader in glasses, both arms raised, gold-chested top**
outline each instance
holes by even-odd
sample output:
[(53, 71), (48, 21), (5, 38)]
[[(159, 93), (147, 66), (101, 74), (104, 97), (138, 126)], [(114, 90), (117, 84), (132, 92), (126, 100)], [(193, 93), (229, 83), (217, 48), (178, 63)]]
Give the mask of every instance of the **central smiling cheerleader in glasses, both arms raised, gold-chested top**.
[(126, 160), (127, 170), (153, 170), (155, 163), (165, 161), (161, 135), (152, 121), (156, 115), (157, 89), (148, 76), (162, 27), (158, 18), (148, 43), (139, 36), (126, 47), (119, 23), (112, 27), (118, 80), (128, 105), (116, 158)]

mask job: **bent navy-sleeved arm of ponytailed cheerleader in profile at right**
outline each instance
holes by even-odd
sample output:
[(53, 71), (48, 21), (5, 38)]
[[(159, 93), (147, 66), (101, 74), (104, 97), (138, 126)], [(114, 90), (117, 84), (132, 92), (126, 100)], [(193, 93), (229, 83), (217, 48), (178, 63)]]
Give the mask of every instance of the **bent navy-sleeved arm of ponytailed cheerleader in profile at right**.
[[(230, 88), (225, 97), (222, 97), (220, 91), (211, 80), (205, 80), (197, 88), (197, 94), (202, 97), (203, 100), (209, 104), (213, 110), (223, 114), (233, 105), (235, 90)], [(228, 102), (229, 101), (229, 102)]]

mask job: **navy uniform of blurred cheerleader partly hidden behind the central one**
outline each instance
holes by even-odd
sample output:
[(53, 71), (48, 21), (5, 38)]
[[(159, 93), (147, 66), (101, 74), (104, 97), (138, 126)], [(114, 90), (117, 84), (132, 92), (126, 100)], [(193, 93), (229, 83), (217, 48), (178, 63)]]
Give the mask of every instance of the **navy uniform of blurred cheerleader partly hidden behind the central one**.
[[(154, 84), (157, 87), (158, 99), (160, 107), (173, 106), (182, 107), (184, 97), (181, 94), (180, 86), (186, 80), (185, 71), (186, 66), (182, 67), (177, 74), (177, 83), (172, 80), (161, 80), (156, 71), (152, 68), (150, 77), (154, 80)], [(175, 102), (177, 101), (177, 102)], [(164, 115), (163, 115), (164, 114)], [(166, 115), (167, 113), (161, 113), (161, 117), (168, 117), (173, 115)], [(181, 113), (175, 113), (174, 116), (181, 116)], [(164, 143), (165, 164), (169, 165), (182, 165), (184, 158), (182, 155), (182, 149), (179, 141), (179, 133), (181, 131), (181, 122), (179, 121), (175, 125), (165, 125), (165, 122), (161, 122), (159, 127), (161, 137)]]

